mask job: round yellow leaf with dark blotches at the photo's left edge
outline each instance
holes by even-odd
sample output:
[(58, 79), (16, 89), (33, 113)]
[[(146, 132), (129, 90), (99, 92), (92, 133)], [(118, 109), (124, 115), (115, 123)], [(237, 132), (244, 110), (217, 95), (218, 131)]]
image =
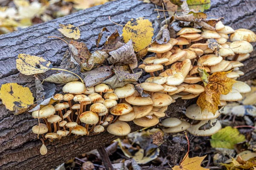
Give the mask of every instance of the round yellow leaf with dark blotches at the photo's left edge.
[[(0, 89), (0, 98), (6, 109), (10, 111), (26, 111), (34, 102), (34, 97), (27, 87), (18, 85), (17, 83), (7, 83), (2, 85)], [(17, 110), (17, 111), (16, 111)]]

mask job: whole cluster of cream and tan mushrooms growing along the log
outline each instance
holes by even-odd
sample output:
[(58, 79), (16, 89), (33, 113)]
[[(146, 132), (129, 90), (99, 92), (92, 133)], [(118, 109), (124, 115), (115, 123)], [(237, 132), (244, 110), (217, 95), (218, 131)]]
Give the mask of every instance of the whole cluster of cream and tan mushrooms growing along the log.
[[(54, 99), (60, 102), (47, 105), (39, 111), (33, 111), (36, 119), (44, 119), (32, 128), (33, 133), (42, 136), (41, 154), (46, 154), (44, 140), (52, 142), (64, 136), (98, 134), (107, 131), (117, 136), (130, 133), (129, 121), (142, 127), (157, 125), (159, 119), (165, 117), (165, 111), (175, 99), (192, 99), (204, 92), (204, 84), (197, 69), (202, 68), (209, 74), (231, 71), (227, 77), (236, 79), (244, 73), (239, 70), (240, 62), (250, 56), (256, 41), (256, 34), (247, 29), (233, 30), (219, 21), (216, 31), (196, 28), (182, 28), (177, 38), (171, 38), (165, 44), (154, 42), (148, 51), (156, 53), (155, 57), (147, 57), (139, 68), (150, 73), (145, 82), (137, 84), (143, 88), (147, 97), (141, 96), (132, 84), (111, 89), (108, 85), (99, 84), (85, 88), (82, 82), (69, 82), (63, 87), (62, 94), (55, 94)], [(230, 34), (230, 36), (228, 35)], [(208, 47), (207, 39), (215, 39), (219, 43), (219, 55)], [(227, 42), (230, 39), (232, 42)], [(186, 49), (184, 48), (186, 47)], [(242, 99), (241, 93), (250, 91), (244, 82), (236, 82), (233, 90), (221, 95), (221, 106), (227, 101)], [(177, 133), (188, 130), (193, 135), (209, 136), (221, 129), (218, 121), (220, 112), (215, 114), (194, 104), (187, 108), (186, 117), (196, 120), (188, 123), (177, 118), (164, 119), (161, 125), (166, 133)], [(52, 125), (53, 124), (53, 125)], [(210, 124), (211, 128), (202, 128)], [(40, 130), (39, 130), (40, 129)], [(45, 134), (46, 133), (46, 134)]]

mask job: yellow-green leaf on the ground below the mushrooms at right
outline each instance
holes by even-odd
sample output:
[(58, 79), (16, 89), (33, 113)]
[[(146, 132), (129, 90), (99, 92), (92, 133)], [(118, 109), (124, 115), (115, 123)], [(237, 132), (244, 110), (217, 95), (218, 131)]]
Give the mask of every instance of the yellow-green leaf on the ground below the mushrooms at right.
[(234, 149), (235, 144), (245, 140), (245, 136), (239, 133), (238, 129), (227, 126), (213, 134), (210, 142), (212, 147)]

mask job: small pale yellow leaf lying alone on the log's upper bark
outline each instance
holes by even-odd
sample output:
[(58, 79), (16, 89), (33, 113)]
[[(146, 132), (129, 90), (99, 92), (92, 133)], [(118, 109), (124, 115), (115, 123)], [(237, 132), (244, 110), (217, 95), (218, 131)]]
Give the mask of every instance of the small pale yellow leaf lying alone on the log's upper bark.
[(77, 40), (80, 38), (80, 31), (78, 27), (73, 26), (71, 24), (65, 26), (64, 24), (59, 24), (58, 31), (60, 31), (64, 36), (68, 38), (73, 38), (74, 40)]

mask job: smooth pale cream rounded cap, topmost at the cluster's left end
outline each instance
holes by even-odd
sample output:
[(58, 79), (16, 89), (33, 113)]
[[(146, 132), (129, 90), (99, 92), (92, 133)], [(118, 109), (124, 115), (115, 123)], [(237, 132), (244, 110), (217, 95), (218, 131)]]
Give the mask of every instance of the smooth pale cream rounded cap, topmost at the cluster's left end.
[(62, 91), (64, 93), (82, 94), (86, 91), (86, 88), (82, 82), (68, 82), (63, 86)]

